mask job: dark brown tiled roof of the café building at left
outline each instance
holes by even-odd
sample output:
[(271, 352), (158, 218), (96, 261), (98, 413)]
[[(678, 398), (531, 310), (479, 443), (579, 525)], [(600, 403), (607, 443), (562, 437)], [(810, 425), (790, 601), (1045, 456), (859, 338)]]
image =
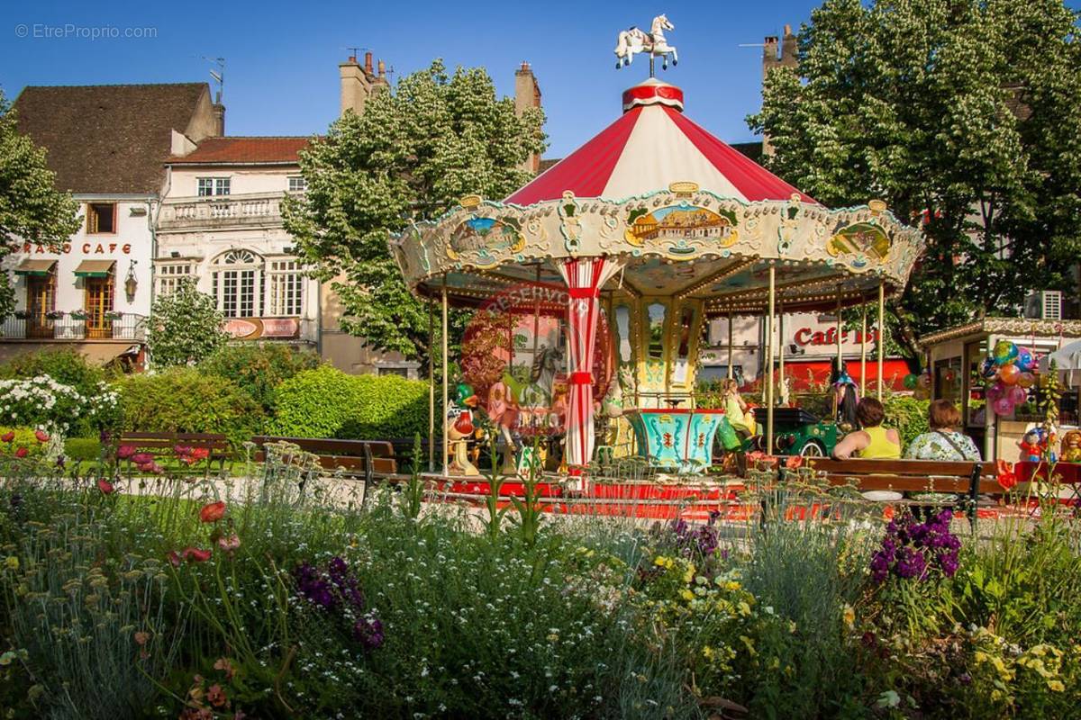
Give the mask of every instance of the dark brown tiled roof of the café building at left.
[(172, 131), (184, 133), (206, 83), (31, 85), (15, 100), (18, 130), (49, 150), (61, 190), (150, 193), (161, 189)]

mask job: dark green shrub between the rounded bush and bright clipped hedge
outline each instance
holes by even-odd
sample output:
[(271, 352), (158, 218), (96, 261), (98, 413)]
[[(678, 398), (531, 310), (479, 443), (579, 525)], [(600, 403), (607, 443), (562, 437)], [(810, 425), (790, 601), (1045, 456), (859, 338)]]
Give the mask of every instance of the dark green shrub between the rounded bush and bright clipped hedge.
[(270, 415), (275, 389), (297, 372), (321, 364), (319, 354), (310, 350), (273, 342), (243, 342), (221, 348), (200, 363), (199, 369), (232, 380)]

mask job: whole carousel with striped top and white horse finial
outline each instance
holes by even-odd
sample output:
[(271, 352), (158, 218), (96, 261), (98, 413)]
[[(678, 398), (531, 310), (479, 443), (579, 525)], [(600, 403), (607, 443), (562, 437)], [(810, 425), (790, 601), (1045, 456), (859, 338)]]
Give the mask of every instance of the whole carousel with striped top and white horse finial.
[[(671, 24), (660, 16), (654, 27)], [(508, 452), (529, 429), (555, 429), (561, 470), (582, 483), (598, 445), (611, 451), (598, 416), (631, 429), (629, 451), (659, 471), (706, 472), (723, 418), (695, 392), (706, 324), (764, 317), (774, 368), (779, 314), (864, 305), (866, 323), (877, 307), (882, 327), (886, 298), (920, 254), (919, 231), (884, 203), (824, 207), (710, 135), (684, 112), (683, 91), (653, 77), (654, 57), (673, 50), (625, 35), (618, 65), (648, 53), (651, 77), (624, 92), (615, 122), (510, 196), (464, 198), (390, 241), (411, 290), (441, 307), (444, 344), (449, 307), (476, 309), (492, 337), (506, 338), (464, 342), (483, 370), (470, 377), (463, 358), (468, 391), (456, 398), (444, 352), (444, 448), (468, 430), (458, 399), (493, 418)], [(496, 308), (509, 320), (492, 320)], [(882, 343), (877, 359), (881, 368)], [(763, 395), (760, 430), (773, 452), (773, 382)], [(446, 453), (443, 478), (477, 472), (458, 460)]]

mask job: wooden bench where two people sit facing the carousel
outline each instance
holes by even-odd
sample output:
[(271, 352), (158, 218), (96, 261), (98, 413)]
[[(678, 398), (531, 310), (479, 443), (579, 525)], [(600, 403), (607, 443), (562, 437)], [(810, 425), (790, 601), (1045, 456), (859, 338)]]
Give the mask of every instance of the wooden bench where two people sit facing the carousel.
[(817, 473), (825, 473), (830, 485), (844, 486), (855, 481), (860, 492), (892, 490), (960, 495), (964, 500), (956, 504), (964, 506), (973, 528), (979, 495), (1001, 495), (1005, 492), (999, 485), (993, 462), (806, 458), (804, 463)]

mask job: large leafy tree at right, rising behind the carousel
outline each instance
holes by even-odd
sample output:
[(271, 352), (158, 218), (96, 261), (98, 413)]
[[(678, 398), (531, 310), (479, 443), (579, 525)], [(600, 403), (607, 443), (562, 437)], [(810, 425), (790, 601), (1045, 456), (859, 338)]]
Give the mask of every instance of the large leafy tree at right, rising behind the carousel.
[(891, 311), (903, 342), (1031, 288), (1081, 249), (1081, 45), (1062, 0), (827, 0), (751, 128), (831, 206), (881, 198), (927, 249)]

